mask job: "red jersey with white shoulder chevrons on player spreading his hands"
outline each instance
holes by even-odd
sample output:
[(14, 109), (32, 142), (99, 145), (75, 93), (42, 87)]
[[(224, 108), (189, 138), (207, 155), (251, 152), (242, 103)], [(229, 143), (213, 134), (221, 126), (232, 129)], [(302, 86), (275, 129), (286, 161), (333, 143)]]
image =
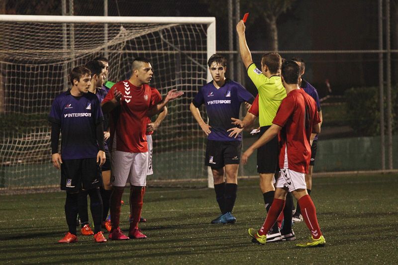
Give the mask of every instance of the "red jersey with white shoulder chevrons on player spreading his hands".
[(145, 135), (148, 122), (147, 111), (161, 99), (153, 96), (149, 85), (138, 88), (125, 80), (113, 85), (102, 103), (114, 97), (115, 89), (119, 90), (122, 96), (120, 105), (110, 113), (110, 149), (129, 153), (147, 152), (148, 144)]

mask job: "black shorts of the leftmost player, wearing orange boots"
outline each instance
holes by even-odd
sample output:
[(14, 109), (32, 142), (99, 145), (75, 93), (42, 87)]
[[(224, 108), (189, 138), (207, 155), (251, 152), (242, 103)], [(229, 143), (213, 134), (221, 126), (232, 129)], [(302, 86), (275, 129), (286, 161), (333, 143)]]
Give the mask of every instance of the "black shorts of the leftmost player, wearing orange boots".
[(61, 164), (61, 189), (77, 192), (81, 188), (102, 186), (102, 174), (97, 158), (66, 159)]

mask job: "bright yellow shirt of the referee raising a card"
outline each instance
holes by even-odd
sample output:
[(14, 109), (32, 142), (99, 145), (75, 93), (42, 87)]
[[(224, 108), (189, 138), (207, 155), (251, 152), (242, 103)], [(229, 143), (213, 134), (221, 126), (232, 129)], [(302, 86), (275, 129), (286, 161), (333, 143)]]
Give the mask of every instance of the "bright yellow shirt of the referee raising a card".
[(260, 126), (270, 126), (275, 118), (282, 99), (286, 97), (286, 90), (281, 77), (264, 76), (255, 64), (247, 69), (247, 74), (253, 81), (259, 93), (259, 122)]

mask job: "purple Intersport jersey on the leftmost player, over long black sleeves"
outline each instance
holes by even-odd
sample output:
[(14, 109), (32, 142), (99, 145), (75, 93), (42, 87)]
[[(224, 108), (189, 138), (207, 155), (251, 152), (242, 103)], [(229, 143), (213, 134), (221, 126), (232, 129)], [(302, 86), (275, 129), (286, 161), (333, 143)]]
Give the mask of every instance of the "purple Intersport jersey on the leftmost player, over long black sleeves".
[(70, 90), (61, 93), (54, 99), (48, 120), (61, 125), (62, 159), (97, 157), (96, 125), (103, 121), (103, 116), (94, 93), (79, 97)]

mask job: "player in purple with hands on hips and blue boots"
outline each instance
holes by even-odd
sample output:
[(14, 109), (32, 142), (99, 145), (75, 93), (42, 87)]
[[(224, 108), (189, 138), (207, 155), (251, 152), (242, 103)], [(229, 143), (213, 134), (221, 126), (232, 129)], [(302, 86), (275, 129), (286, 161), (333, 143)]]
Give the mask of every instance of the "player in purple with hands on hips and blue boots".
[[(239, 117), (242, 102), (253, 102), (254, 97), (239, 83), (225, 78), (226, 59), (213, 54), (207, 66), (213, 81), (201, 87), (190, 105), (190, 110), (202, 131), (207, 135), (205, 165), (211, 167), (214, 190), (221, 215), (216, 223), (235, 223), (231, 212), (238, 188), (238, 167), (242, 148), (242, 135), (230, 137), (228, 129), (231, 117)], [(200, 116), (199, 107), (204, 104), (209, 124)], [(224, 179), (226, 176), (226, 183)]]

